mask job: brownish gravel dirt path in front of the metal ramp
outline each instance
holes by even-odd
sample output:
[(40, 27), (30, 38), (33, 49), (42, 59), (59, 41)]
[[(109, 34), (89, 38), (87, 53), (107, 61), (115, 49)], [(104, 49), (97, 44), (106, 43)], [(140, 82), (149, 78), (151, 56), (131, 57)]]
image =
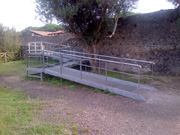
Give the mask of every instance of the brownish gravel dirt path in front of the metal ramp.
[[(93, 91), (70, 90), (40, 81), (0, 77), (0, 83), (25, 90), (46, 102), (43, 120), (79, 125), (86, 135), (180, 135), (180, 79), (164, 78), (148, 102)], [(82, 133), (80, 129), (89, 129)]]

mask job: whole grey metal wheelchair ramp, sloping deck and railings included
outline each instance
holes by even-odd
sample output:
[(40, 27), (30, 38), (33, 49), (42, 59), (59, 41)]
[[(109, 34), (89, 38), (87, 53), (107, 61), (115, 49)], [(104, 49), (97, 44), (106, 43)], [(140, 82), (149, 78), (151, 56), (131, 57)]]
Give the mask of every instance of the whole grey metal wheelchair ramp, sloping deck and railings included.
[[(41, 43), (41, 45), (42, 44), (43, 43)], [(34, 51), (31, 50), (27, 52), (29, 52), (27, 53), (27, 58), (31, 59), (31, 53)], [(137, 63), (149, 64), (150, 67), (152, 67), (151, 72), (152, 72), (152, 80), (153, 80), (153, 65), (154, 65), (153, 62), (141, 61), (135, 59), (117, 58), (117, 57), (97, 55), (97, 54), (86, 54), (84, 52), (82, 53), (82, 52), (72, 51), (72, 49), (71, 50), (61, 49), (61, 52), (40, 50), (38, 54), (39, 54), (38, 57), (40, 57), (40, 62), (42, 63), (43, 66), (29, 67), (28, 64), (29, 60), (27, 59), (27, 69), (26, 69), (27, 77), (36, 77), (43, 80), (43, 74), (48, 74), (63, 79), (67, 79), (70, 81), (74, 81), (80, 84), (84, 84), (87, 86), (91, 86), (94, 88), (98, 88), (101, 90), (108, 90), (109, 92), (112, 93), (116, 93), (125, 97), (129, 97), (132, 99), (145, 101), (145, 102), (147, 101), (147, 98), (145, 98), (145, 96), (142, 96), (142, 94), (144, 95), (146, 90), (152, 90), (152, 91), (156, 90), (154, 87), (140, 84), (140, 69), (142, 68), (142, 66), (140, 64), (137, 64)], [(32, 55), (34, 55), (34, 53)], [(100, 70), (105, 71), (106, 73), (105, 75), (100, 75), (82, 70), (82, 66), (87, 66), (84, 65), (84, 63), (92, 59), (91, 55), (97, 56), (97, 59), (95, 58), (94, 59), (97, 60), (99, 63), (104, 63), (103, 67), (101, 67), (101, 65), (99, 64), (98, 69), (99, 71)], [(57, 62), (58, 61), (59, 62), (54, 65), (51, 64), (51, 66), (47, 66), (45, 64), (47, 64), (46, 62), (48, 62), (47, 60), (49, 58), (55, 59)], [(123, 62), (120, 60), (123, 60)], [(124, 62), (124, 60), (126, 62)], [(136, 75), (136, 77), (138, 77), (138, 84), (109, 77), (107, 75), (107, 71), (112, 71), (112, 70), (108, 70), (108, 63), (119, 64), (118, 66), (122, 67), (122, 71), (120, 71), (119, 73), (122, 73), (124, 75), (125, 74), (133, 75), (130, 73), (126, 73), (124, 71), (124, 66), (135, 67), (138, 73)], [(71, 68), (73, 66), (79, 66), (80, 70)], [(30, 71), (40, 73), (40, 76), (30, 75), (29, 74)], [(141, 88), (143, 89), (142, 94), (141, 92), (139, 92), (140, 90), (142, 91)]]

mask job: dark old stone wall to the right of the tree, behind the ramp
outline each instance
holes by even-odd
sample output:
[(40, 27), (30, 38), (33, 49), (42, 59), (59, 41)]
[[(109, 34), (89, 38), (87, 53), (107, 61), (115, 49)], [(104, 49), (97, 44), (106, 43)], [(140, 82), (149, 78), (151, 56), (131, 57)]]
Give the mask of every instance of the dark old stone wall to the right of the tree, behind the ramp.
[(178, 10), (120, 19), (116, 34), (104, 40), (102, 54), (151, 60), (155, 71), (180, 74)]

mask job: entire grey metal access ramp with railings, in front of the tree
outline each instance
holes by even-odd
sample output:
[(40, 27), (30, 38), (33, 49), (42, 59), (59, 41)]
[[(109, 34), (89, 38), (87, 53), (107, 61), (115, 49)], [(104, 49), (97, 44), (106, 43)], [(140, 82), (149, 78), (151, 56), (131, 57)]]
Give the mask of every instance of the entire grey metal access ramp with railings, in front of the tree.
[[(38, 44), (42, 48), (34, 49)], [(45, 50), (49, 45), (51, 45), (51, 49)], [(142, 78), (141, 71), (144, 70), (143, 67), (146, 67), (145, 69), (150, 69), (149, 72), (151, 72), (151, 76), (147, 77), (153, 83), (153, 62), (87, 54), (83, 51), (76, 51), (73, 47), (65, 45), (58, 45), (58, 47), (54, 45), (52, 47), (53, 45), (44, 42), (29, 43), (27, 77), (36, 77), (43, 80), (43, 74), (52, 75), (145, 102), (147, 99), (136, 93), (136, 90), (140, 88), (156, 90), (153, 86), (143, 85), (140, 82)], [(90, 65), (90, 60), (96, 61), (96, 66)], [(31, 65), (32, 61), (36, 61), (39, 65)], [(147, 65), (149, 68), (147, 68)], [(75, 66), (78, 66), (79, 69), (73, 68)], [(90, 68), (96, 68), (97, 73), (89, 72), (87, 69)], [(29, 74), (29, 72), (36, 73)], [(120, 77), (109, 77), (108, 73), (114, 73)], [(128, 76), (134, 77), (137, 83), (129, 81)]]

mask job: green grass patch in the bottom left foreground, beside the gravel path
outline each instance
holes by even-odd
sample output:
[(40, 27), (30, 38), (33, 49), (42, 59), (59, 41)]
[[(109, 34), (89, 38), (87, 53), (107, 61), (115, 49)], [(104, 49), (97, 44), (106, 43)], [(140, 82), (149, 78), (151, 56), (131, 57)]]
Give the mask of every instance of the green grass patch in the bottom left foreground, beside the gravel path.
[[(21, 90), (0, 86), (1, 135), (67, 135), (65, 126), (39, 122), (34, 115), (43, 109), (38, 100), (31, 100)], [(67, 130), (66, 130), (67, 131)]]

